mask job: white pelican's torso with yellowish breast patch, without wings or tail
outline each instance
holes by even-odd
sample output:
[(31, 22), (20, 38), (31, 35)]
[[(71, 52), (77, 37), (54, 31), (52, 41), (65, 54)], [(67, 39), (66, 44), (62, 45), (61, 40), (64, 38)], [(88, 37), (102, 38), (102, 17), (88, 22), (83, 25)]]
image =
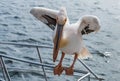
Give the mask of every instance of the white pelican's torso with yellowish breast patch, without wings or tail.
[(78, 24), (66, 23), (60, 41), (60, 50), (66, 54), (80, 53), (83, 48), (81, 33), (78, 33)]

